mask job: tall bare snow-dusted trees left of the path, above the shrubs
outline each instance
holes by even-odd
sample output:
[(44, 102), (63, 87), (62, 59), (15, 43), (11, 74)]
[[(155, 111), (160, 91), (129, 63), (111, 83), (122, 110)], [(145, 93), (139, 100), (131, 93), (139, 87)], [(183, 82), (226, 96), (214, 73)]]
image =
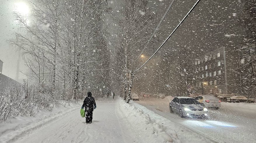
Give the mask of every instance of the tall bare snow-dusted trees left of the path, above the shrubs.
[(31, 18), (15, 13), (20, 27), (12, 45), (24, 53), (25, 73), (41, 92), (61, 90), (70, 99), (106, 87), (108, 55), (102, 28), (105, 1), (36, 0)]

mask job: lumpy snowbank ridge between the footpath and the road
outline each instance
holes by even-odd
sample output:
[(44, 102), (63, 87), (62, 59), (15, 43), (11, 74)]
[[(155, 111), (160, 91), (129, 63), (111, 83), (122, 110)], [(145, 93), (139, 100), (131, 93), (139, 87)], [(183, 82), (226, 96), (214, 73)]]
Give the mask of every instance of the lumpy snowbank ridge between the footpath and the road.
[(141, 132), (145, 139), (150, 137), (149, 142), (207, 142), (203, 137), (133, 101), (130, 101), (130, 104), (120, 101), (119, 107), (132, 126)]

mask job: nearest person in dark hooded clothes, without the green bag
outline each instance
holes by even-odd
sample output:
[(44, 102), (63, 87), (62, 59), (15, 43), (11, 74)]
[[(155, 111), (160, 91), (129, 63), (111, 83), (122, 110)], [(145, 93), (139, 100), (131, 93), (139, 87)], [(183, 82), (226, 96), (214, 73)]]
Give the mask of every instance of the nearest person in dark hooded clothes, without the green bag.
[(86, 114), (86, 124), (92, 123), (93, 120), (93, 109), (96, 108), (95, 99), (92, 97), (92, 93), (88, 92), (87, 97), (85, 97), (82, 105), (82, 109), (85, 108)]

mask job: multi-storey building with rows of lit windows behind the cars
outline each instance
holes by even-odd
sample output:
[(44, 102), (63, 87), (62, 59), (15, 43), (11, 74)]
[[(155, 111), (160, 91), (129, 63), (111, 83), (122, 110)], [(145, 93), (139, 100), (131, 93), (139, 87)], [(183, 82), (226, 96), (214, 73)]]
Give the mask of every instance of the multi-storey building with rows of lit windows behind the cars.
[(191, 63), (192, 93), (238, 93), (238, 57), (234, 49), (218, 48)]

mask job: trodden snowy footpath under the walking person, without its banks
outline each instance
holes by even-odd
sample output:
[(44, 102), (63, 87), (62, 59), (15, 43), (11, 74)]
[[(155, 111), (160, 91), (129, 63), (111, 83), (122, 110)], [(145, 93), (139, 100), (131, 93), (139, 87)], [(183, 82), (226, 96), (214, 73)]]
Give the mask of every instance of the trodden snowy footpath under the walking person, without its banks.
[(122, 119), (115, 101), (96, 101), (96, 104), (92, 124), (85, 124), (79, 106), (77, 110), (16, 138), (15, 142), (140, 142), (126, 120)]

